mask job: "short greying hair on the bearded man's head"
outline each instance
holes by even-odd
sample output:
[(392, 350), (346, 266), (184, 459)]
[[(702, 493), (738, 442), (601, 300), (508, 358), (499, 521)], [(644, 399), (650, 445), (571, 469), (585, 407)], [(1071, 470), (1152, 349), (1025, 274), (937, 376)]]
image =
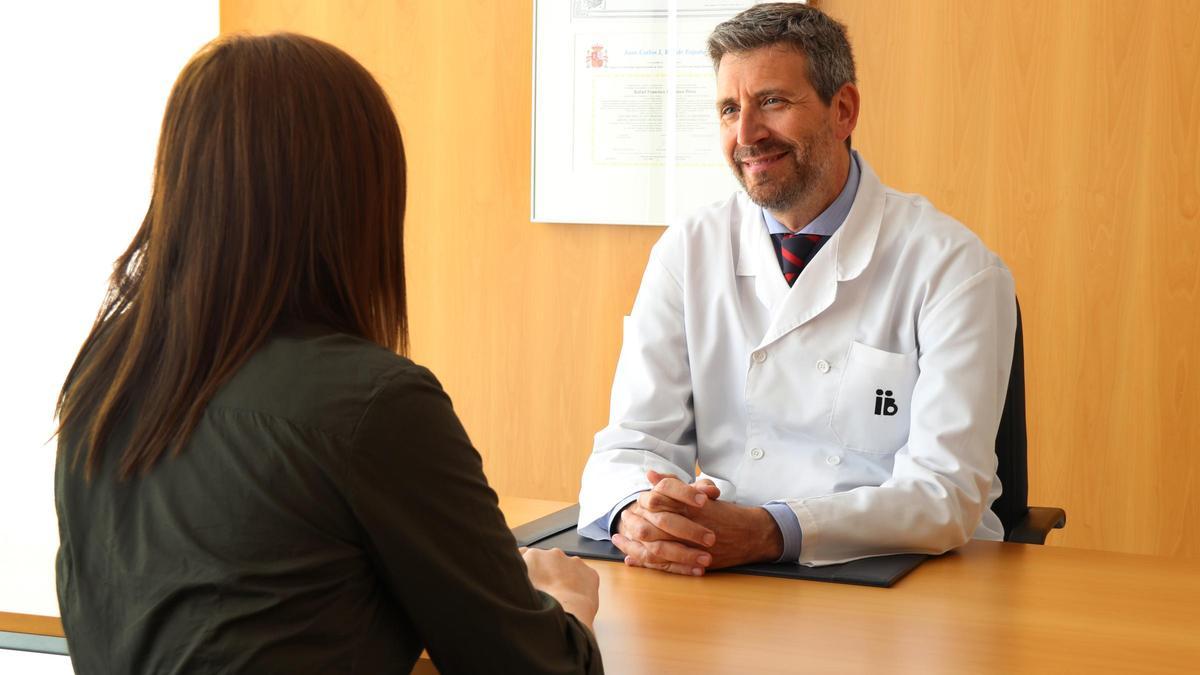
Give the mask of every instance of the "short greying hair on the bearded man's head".
[(788, 46), (808, 58), (809, 80), (827, 106), (844, 84), (857, 82), (846, 26), (799, 2), (755, 5), (718, 25), (708, 36), (708, 55), (716, 68), (726, 54), (772, 44)]

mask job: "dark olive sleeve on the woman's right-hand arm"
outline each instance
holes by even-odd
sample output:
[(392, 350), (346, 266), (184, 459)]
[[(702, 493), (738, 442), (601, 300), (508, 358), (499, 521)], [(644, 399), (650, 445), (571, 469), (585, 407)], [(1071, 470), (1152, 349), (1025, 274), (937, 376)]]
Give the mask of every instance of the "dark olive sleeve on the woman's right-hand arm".
[(482, 461), (427, 370), (374, 393), (348, 501), (383, 584), (440, 673), (602, 673), (592, 632), (533, 587)]

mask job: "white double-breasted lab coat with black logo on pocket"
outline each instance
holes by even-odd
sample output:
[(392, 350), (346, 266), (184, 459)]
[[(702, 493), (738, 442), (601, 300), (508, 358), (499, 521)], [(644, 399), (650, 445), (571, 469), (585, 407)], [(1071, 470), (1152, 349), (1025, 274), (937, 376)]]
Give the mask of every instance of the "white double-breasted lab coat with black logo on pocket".
[(666, 229), (625, 319), (581, 533), (607, 538), (646, 470), (698, 467), (722, 500), (787, 503), (803, 565), (1003, 538), (989, 507), (1013, 277), (966, 227), (860, 165), (846, 221), (792, 288), (744, 192)]

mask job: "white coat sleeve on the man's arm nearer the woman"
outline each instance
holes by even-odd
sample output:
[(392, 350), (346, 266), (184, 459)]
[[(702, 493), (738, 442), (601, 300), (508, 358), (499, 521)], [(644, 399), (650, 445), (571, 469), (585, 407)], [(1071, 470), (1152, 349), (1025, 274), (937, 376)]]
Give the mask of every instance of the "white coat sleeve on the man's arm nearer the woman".
[[(613, 377), (608, 425), (595, 436), (580, 489), (580, 534), (608, 538), (612, 509), (650, 489), (654, 470), (691, 482), (696, 466), (691, 371), (683, 321), (683, 287), (664, 264), (664, 247), (650, 252)], [(667, 253), (670, 255), (670, 253)]]

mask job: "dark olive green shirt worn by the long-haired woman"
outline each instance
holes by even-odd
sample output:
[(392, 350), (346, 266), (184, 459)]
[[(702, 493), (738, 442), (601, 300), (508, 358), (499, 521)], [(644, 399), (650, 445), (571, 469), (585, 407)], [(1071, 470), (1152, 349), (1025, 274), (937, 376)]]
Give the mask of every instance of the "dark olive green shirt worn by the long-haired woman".
[(86, 482), (59, 441), (59, 604), (76, 670), (601, 673), (530, 585), (450, 399), (426, 369), (305, 327), (272, 338), (178, 456)]

